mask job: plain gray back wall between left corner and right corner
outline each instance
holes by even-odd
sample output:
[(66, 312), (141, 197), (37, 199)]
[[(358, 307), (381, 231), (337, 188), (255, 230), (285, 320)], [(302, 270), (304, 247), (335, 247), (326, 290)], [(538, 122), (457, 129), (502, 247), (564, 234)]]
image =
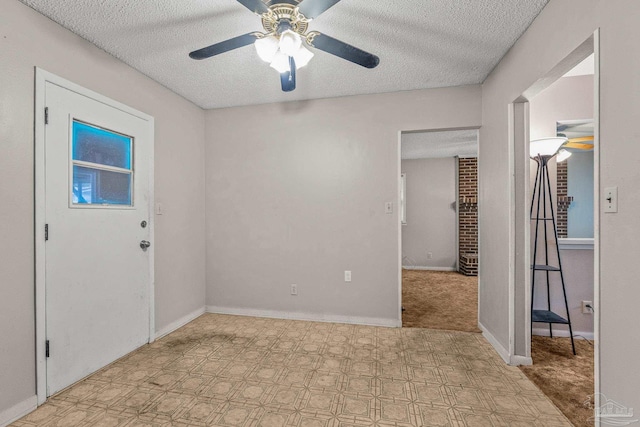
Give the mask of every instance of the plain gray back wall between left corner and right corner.
[(466, 86), (207, 112), (207, 305), (399, 325), (400, 131), (478, 126), (480, 102)]

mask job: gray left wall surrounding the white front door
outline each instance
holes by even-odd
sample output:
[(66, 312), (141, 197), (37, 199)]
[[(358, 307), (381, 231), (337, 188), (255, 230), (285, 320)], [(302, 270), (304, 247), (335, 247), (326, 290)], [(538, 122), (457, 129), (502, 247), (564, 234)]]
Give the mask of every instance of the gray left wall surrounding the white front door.
[(204, 112), (17, 0), (0, 13), (0, 413), (35, 395), (34, 66), (155, 117), (156, 327), (204, 300)]

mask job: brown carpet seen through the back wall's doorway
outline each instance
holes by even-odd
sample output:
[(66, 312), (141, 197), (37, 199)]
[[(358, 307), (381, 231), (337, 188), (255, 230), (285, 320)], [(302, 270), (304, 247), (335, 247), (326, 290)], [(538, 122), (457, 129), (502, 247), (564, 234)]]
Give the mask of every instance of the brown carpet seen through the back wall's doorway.
[(402, 270), (402, 306), (404, 327), (480, 332), (477, 277)]

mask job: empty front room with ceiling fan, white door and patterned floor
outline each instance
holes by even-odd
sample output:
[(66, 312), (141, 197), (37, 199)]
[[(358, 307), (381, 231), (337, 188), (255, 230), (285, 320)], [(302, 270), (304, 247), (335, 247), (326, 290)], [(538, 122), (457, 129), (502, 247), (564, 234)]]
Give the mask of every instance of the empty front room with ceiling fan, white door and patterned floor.
[[(593, 249), (561, 249), (593, 334), (581, 417), (635, 422), (639, 21), (636, 0), (3, 1), (0, 426), (572, 425), (517, 368), (548, 331), (531, 345), (524, 149), (590, 118)], [(592, 79), (593, 116), (535, 134), (590, 53), (565, 81)], [(401, 139), (469, 129), (481, 333), (402, 328)]]

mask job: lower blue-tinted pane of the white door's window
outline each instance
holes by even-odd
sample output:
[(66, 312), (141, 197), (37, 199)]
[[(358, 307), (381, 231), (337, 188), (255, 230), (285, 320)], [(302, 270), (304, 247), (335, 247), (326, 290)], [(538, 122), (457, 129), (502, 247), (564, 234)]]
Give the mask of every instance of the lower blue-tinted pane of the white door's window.
[(131, 174), (74, 165), (73, 203), (131, 206)]

